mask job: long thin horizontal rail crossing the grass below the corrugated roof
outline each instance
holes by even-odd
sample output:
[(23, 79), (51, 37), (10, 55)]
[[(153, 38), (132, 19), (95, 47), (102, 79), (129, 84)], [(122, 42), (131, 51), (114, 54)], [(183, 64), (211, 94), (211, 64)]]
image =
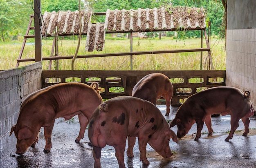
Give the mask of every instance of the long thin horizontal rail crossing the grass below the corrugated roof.
[[(177, 50), (157, 50), (157, 51), (134, 51), (124, 53), (107, 53), (107, 54), (90, 54), (90, 55), (77, 55), (76, 58), (91, 58), (91, 57), (112, 57), (122, 55), (145, 55), (145, 54), (162, 54), (162, 53), (186, 53), (186, 52), (201, 52), (210, 51), (210, 48), (199, 49), (177, 49)], [(43, 60), (63, 60), (72, 59), (73, 56), (57, 56), (57, 57), (43, 57)], [(17, 59), (18, 62), (34, 61), (35, 58)]]

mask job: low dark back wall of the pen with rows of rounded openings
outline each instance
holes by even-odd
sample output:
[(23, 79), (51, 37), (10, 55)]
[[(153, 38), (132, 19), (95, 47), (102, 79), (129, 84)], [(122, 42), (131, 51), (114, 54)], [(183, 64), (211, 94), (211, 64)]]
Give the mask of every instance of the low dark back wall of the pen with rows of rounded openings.
[[(101, 97), (110, 99), (121, 95), (132, 95), (132, 88), (145, 75), (163, 73), (173, 83), (172, 105), (179, 105), (180, 99), (189, 97), (200, 88), (225, 86), (226, 71), (42, 71), (42, 88), (56, 83), (69, 82), (75, 78), (79, 82), (99, 83)], [(193, 80), (194, 79), (194, 80)], [(195, 82), (198, 81), (198, 82)], [(123, 88), (120, 92), (112, 92), (111, 88)], [(185, 92), (182, 92), (184, 91)]]

